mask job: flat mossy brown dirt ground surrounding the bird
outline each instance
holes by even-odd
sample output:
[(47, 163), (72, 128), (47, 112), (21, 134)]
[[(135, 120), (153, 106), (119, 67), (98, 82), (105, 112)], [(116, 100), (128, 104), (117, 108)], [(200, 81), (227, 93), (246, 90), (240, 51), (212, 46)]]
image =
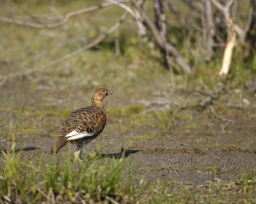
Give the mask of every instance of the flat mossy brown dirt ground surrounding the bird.
[[(250, 89), (226, 86), (214, 94), (211, 89), (173, 87), (167, 77), (162, 80), (131, 88), (108, 87), (114, 93), (104, 101), (108, 122), (88, 152), (98, 150), (103, 157), (118, 159), (124, 148), (127, 172), (170, 183), (230, 181), (255, 172), (256, 106)], [(27, 78), (4, 84), (1, 150), (8, 149), (15, 136), (17, 149), (25, 150), (24, 160), (44, 157), (47, 163), (61, 122), (76, 108), (90, 105), (95, 89), (66, 88), (60, 84), (31, 88)], [(199, 106), (205, 100), (209, 104)]]

